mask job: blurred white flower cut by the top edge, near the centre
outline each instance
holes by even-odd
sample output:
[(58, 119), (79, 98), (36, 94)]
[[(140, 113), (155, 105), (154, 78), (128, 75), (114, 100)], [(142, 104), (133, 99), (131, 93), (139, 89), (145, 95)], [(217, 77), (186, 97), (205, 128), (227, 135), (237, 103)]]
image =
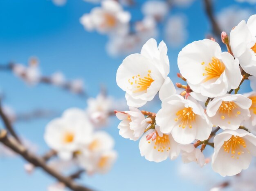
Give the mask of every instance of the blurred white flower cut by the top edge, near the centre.
[(162, 20), (169, 11), (169, 6), (167, 2), (150, 0), (146, 1), (142, 5), (142, 13), (146, 16), (152, 16), (157, 20)]

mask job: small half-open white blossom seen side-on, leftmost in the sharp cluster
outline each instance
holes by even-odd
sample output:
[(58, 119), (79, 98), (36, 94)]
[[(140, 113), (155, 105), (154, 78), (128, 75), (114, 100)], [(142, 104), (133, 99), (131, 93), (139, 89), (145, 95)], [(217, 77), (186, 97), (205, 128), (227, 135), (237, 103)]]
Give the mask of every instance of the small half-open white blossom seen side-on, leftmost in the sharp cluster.
[(149, 125), (150, 118), (145, 116), (136, 107), (129, 107), (130, 111), (116, 112), (119, 120), (119, 135), (130, 140), (138, 140)]

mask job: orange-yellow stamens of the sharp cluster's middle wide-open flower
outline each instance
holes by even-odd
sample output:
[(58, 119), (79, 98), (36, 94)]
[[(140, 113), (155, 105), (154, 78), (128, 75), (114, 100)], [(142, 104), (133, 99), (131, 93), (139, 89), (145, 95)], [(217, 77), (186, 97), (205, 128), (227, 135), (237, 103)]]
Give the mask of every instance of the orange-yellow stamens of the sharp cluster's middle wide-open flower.
[(184, 107), (180, 111), (177, 111), (176, 113), (177, 118), (175, 118), (175, 121), (180, 120), (179, 127), (182, 127), (183, 129), (185, 127), (192, 128), (192, 122), (195, 120), (195, 113), (192, 111), (191, 107)]

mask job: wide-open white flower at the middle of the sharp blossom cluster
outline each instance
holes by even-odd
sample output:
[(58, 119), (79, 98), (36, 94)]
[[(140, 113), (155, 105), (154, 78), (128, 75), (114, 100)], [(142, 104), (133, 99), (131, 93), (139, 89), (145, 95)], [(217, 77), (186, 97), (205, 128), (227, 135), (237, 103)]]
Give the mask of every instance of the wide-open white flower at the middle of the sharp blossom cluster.
[(156, 123), (163, 133), (171, 133), (180, 144), (189, 144), (195, 139), (206, 140), (212, 130), (204, 109), (191, 96), (184, 99), (180, 95), (173, 95), (162, 102)]

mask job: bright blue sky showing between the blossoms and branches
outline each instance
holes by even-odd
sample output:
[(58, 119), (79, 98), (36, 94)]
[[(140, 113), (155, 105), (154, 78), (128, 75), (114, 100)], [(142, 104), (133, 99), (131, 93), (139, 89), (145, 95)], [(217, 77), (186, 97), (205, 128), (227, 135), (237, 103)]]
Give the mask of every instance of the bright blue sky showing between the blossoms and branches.
[[(142, 18), (140, 7), (144, 0), (137, 1), (132, 20)], [(241, 9), (255, 6), (238, 4), (234, 0), (215, 0), (216, 11), (236, 4)], [(45, 75), (62, 71), (69, 79), (82, 78), (90, 96), (99, 93), (104, 84), (108, 93), (115, 98), (124, 98), (124, 92), (116, 85), (115, 74), (124, 56), (112, 58), (106, 53), (107, 36), (87, 32), (79, 23), (83, 13), (88, 13), (94, 4), (82, 0), (67, 0), (63, 7), (55, 6), (50, 0), (0, 0), (0, 63), (11, 60), (27, 63), (30, 56), (37, 56)], [(175, 9), (170, 15), (184, 13), (188, 17), (189, 39), (187, 43), (200, 40), (211, 27), (205, 16), (201, 0), (191, 7)], [(157, 41), (163, 38), (160, 32)], [(177, 54), (182, 47), (169, 49), (170, 77), (177, 80)], [(86, 107), (86, 100), (56, 87), (40, 84), (28, 87), (9, 72), (0, 71), (0, 89), (6, 95), (4, 104), (17, 112), (36, 108), (64, 111), (69, 107)], [(249, 91), (245, 83), (242, 91)], [(159, 107), (159, 106), (158, 106)], [(38, 144), (41, 153), (47, 151), (43, 140), (45, 125), (50, 119), (18, 122), (15, 128), (20, 135)], [(97, 190), (205, 190), (177, 175), (177, 161), (148, 162), (140, 156), (138, 142), (119, 136), (118, 120), (112, 119), (107, 131), (116, 142), (119, 153), (117, 163), (106, 175), (85, 176), (81, 183)], [(33, 175), (25, 173), (24, 161), (20, 158), (0, 159), (0, 185), (3, 190), (45, 191), (54, 180), (41, 170)], [(218, 175), (216, 175), (218, 177)]]

